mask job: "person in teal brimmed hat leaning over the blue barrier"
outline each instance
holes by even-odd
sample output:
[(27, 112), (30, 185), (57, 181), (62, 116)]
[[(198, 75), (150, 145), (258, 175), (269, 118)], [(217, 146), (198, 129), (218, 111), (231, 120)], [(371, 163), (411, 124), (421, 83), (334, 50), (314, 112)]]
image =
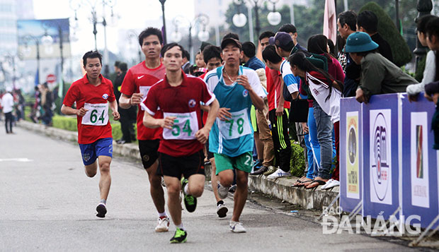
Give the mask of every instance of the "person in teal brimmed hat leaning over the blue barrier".
[(361, 65), (360, 85), (355, 99), (369, 102), (371, 95), (405, 92), (407, 85), (418, 83), (377, 51), (378, 44), (365, 32), (349, 35), (344, 52)]

